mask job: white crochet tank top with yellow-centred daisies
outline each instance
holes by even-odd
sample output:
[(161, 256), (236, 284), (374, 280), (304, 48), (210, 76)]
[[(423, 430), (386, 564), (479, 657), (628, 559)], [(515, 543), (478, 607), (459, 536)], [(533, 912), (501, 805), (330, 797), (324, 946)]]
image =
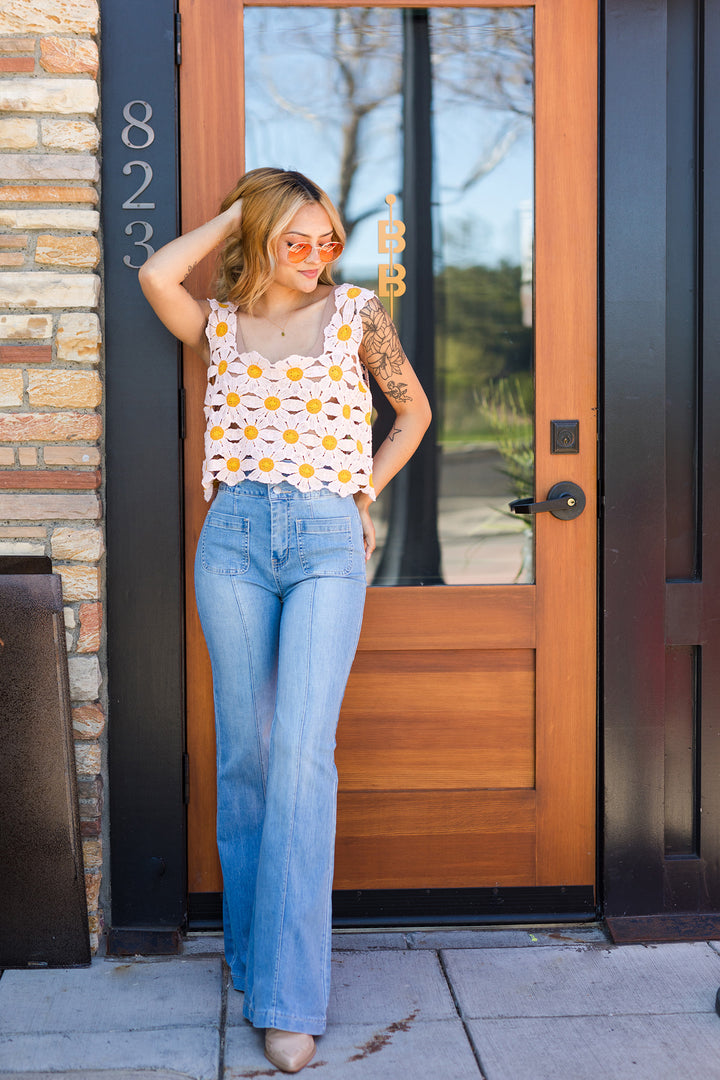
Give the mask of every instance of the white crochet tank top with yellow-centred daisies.
[(373, 296), (340, 285), (318, 356), (270, 363), (245, 351), (236, 306), (210, 300), (205, 334), (210, 364), (205, 394), (203, 489), (215, 482), (288, 481), (301, 491), (327, 487), (340, 495), (372, 490), (371, 400), (357, 350), (361, 311)]

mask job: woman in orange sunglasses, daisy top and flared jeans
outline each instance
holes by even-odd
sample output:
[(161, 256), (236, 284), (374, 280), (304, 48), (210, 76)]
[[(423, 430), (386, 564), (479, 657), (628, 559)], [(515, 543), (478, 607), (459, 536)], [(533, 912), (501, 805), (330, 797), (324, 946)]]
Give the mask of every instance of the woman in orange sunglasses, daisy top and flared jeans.
[[(300, 173), (256, 168), (141, 268), (208, 365), (195, 594), (213, 664), (226, 958), (266, 1055), (296, 1072), (325, 1029), (335, 732), (357, 646), (369, 508), (430, 423), (372, 293), (335, 286), (344, 230)], [(182, 281), (223, 244), (216, 298)], [(395, 409), (371, 456), (366, 370)]]

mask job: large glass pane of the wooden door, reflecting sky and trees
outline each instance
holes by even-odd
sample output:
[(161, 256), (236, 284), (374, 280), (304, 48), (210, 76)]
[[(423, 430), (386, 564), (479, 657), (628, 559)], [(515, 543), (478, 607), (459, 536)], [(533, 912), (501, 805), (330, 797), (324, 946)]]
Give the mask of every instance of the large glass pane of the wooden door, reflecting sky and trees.
[[(392, 308), (433, 403), (375, 508), (373, 584), (533, 580), (532, 519), (507, 512), (533, 491), (532, 33), (531, 9), (245, 10), (246, 167), (327, 190), (349, 235), (336, 281)], [(382, 296), (391, 211), (407, 288)]]

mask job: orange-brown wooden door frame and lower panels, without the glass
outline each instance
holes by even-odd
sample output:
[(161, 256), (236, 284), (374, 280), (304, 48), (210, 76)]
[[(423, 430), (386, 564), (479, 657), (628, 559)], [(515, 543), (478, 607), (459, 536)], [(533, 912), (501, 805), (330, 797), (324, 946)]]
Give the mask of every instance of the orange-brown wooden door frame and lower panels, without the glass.
[[(533, 584), (368, 591), (338, 734), (340, 890), (595, 885), (597, 10), (533, 6), (535, 496), (573, 481), (587, 505), (570, 522), (538, 515)], [(181, 0), (180, 11), (187, 230), (242, 171), (244, 8)], [(195, 295), (210, 269), (193, 274)], [(222, 886), (192, 599), (205, 372), (189, 354), (185, 373), (192, 894)], [(558, 418), (579, 421), (580, 453), (551, 453)]]

